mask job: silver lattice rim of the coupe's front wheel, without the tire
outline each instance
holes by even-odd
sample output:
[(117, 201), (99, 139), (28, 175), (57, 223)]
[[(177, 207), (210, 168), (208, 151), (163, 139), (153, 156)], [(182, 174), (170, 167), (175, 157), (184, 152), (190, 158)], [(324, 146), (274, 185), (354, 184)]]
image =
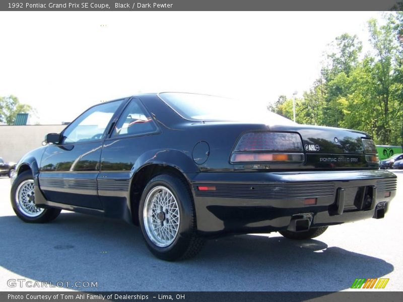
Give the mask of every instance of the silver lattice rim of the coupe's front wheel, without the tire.
[(18, 186), (16, 191), (18, 209), (28, 217), (37, 217), (45, 210), (35, 205), (34, 188), (34, 181), (27, 179)]

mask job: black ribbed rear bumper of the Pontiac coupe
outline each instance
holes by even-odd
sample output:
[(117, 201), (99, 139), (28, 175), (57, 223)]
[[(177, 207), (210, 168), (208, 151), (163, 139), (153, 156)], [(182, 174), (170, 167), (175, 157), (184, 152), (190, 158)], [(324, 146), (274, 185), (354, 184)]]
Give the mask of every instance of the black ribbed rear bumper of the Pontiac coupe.
[[(311, 227), (381, 218), (378, 210), (386, 212), (396, 193), (396, 176), (384, 170), (192, 176), (197, 229), (203, 235), (292, 230), (292, 220), (301, 214), (311, 217)], [(307, 198), (316, 198), (316, 204), (305, 205)]]

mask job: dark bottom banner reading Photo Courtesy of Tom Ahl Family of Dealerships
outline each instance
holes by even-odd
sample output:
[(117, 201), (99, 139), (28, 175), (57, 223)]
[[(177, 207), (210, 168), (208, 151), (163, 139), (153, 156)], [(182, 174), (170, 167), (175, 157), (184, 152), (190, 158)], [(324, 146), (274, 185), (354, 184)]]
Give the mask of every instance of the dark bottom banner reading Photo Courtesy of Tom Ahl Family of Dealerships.
[(2, 302), (270, 302), (270, 301), (401, 301), (403, 292), (383, 291), (262, 291), (262, 292), (234, 292), (234, 291), (201, 291), (201, 292), (80, 292), (80, 291), (32, 291), (32, 292), (0, 292)]

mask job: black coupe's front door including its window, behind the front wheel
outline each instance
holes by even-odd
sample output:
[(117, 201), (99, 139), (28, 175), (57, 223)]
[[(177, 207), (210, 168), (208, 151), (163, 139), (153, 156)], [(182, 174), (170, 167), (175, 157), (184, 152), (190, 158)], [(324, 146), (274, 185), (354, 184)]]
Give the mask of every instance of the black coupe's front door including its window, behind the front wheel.
[(97, 192), (102, 144), (123, 101), (91, 107), (62, 131), (59, 143), (47, 146), (39, 174), (47, 200), (102, 209)]

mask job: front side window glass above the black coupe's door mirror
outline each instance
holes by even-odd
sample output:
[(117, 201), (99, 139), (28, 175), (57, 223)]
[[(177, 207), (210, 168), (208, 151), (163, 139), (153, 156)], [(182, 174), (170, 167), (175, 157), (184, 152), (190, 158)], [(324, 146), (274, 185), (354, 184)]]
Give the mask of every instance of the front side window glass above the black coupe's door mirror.
[(91, 141), (102, 138), (121, 100), (94, 106), (84, 112), (63, 132), (63, 143)]

